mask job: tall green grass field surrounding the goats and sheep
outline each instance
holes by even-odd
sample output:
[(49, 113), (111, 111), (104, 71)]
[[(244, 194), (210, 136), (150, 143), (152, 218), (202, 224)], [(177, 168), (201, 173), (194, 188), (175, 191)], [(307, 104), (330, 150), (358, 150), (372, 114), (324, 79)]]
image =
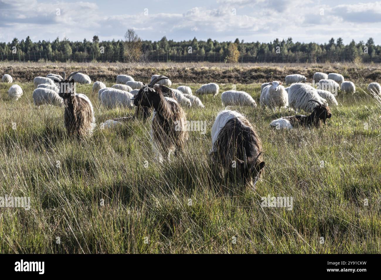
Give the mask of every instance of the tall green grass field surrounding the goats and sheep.
[[(203, 96), (205, 110), (186, 109), (188, 120), (207, 121), (207, 133), (190, 132), (186, 152), (160, 166), (152, 161), (149, 122), (98, 129), (78, 143), (66, 136), (62, 108), (37, 109), (33, 84), (19, 85), (24, 95), (13, 102), (10, 85), (0, 83), (0, 196), (31, 197), (31, 209), (0, 208), (0, 253), (381, 251), (381, 113), (366, 85), (339, 95), (320, 129), (274, 130), (270, 121), (292, 112), (233, 107), (263, 141), (256, 190), (226, 181), (209, 161), (220, 95)], [(258, 102), (260, 83), (236, 86)], [(220, 94), (231, 88), (221, 85)], [(100, 107), (91, 85), (77, 92), (93, 102), (98, 125), (133, 114)], [(267, 195), (293, 197), (293, 210), (261, 208)]]

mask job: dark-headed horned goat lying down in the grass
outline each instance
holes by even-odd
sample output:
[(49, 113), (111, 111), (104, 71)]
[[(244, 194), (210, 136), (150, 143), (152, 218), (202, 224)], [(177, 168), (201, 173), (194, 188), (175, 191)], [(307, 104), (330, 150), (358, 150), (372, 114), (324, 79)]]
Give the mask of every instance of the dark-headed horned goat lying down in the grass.
[(277, 120), (273, 120), (270, 125), (275, 126), (277, 129), (291, 129), (296, 126), (320, 127), (322, 125), (322, 121), (325, 124), (325, 120), (332, 117), (331, 110), (327, 105), (321, 104), (316, 100), (309, 100), (309, 102), (316, 102), (318, 104), (318, 106), (316, 106), (312, 111), (311, 115), (295, 115), (291, 117), (278, 118)]

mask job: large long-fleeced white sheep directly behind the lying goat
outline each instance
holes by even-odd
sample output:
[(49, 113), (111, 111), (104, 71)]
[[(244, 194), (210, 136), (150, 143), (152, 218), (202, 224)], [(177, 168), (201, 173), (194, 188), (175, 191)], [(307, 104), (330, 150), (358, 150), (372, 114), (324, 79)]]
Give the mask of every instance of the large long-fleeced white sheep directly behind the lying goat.
[(297, 112), (303, 109), (305, 112), (312, 113), (315, 107), (319, 105), (316, 102), (309, 102), (310, 100), (327, 104), (327, 100), (322, 98), (316, 89), (310, 85), (295, 83), (290, 86), (288, 90), (288, 104), (291, 108)]

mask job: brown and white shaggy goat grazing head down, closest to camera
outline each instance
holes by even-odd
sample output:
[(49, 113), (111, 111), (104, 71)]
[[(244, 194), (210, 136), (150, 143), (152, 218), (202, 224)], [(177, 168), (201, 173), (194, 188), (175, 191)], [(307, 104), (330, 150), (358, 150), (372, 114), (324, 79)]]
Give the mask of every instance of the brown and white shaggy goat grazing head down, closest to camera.
[(237, 176), (255, 187), (265, 163), (261, 140), (247, 118), (231, 110), (220, 112), (211, 137), (213, 162), (219, 163), (227, 175)]

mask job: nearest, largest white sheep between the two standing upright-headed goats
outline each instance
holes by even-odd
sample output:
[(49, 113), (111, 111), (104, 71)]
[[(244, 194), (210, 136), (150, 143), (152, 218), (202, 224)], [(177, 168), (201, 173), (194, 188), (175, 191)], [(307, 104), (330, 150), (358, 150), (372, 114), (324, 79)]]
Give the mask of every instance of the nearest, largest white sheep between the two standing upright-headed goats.
[(101, 93), (101, 104), (107, 109), (117, 108), (117, 107), (126, 107), (132, 109), (134, 107), (133, 94), (117, 90), (116, 88), (104, 90)]

